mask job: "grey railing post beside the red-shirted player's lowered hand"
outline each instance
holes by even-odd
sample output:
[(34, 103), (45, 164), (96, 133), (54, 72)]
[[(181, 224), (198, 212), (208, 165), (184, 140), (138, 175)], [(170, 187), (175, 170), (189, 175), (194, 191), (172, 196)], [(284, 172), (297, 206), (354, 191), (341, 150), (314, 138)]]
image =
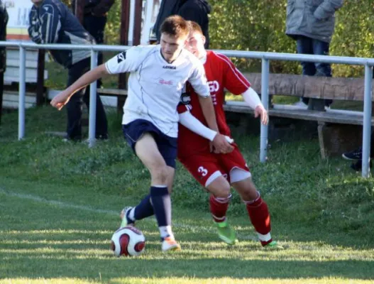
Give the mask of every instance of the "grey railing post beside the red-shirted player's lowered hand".
[[(261, 62), (261, 102), (266, 110), (269, 109), (269, 60)], [(261, 123), (260, 123), (261, 124)], [(261, 124), (260, 129), (260, 162), (265, 163), (268, 156), (268, 126)]]

